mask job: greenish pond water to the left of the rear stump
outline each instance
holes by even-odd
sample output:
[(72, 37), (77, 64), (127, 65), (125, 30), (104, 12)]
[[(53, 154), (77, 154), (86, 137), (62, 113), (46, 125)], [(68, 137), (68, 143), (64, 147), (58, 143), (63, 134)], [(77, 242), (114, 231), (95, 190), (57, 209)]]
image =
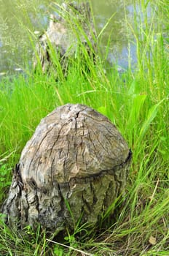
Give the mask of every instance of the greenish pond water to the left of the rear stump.
[(20, 72), (31, 59), (30, 34), (47, 23), (50, 1), (0, 1), (0, 75)]

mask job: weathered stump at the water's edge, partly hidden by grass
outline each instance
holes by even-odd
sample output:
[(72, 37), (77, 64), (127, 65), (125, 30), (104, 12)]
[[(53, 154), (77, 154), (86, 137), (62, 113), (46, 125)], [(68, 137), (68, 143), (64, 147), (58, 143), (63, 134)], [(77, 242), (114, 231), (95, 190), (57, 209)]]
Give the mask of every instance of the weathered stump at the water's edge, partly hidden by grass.
[[(82, 48), (81, 44), (84, 45), (90, 56), (94, 56), (96, 50), (94, 38), (95, 28), (90, 4), (76, 1), (70, 4), (63, 3), (57, 14), (50, 15), (47, 31), (39, 38), (36, 45), (36, 55), (43, 72), (48, 72), (52, 65), (54, 65), (54, 72), (57, 62), (64, 72), (68, 65), (68, 59), (75, 58), (79, 54), (79, 50)], [(80, 54), (83, 55), (83, 50)], [(37, 63), (37, 59), (34, 59), (35, 69)]]

